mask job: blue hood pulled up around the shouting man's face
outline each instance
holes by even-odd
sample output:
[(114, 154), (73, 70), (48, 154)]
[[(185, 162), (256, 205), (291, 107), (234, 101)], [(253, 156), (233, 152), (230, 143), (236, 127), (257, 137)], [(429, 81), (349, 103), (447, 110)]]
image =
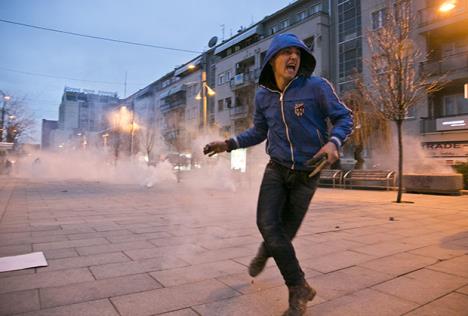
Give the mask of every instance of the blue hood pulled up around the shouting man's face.
[(298, 75), (309, 77), (315, 69), (315, 57), (307, 46), (291, 33), (278, 34), (273, 37), (273, 40), (268, 48), (268, 51), (263, 61), (262, 70), (258, 83), (271, 89), (277, 89), (276, 81), (273, 74), (273, 68), (270, 65), (270, 60), (283, 48), (297, 47), (301, 50), (301, 64), (299, 65)]

